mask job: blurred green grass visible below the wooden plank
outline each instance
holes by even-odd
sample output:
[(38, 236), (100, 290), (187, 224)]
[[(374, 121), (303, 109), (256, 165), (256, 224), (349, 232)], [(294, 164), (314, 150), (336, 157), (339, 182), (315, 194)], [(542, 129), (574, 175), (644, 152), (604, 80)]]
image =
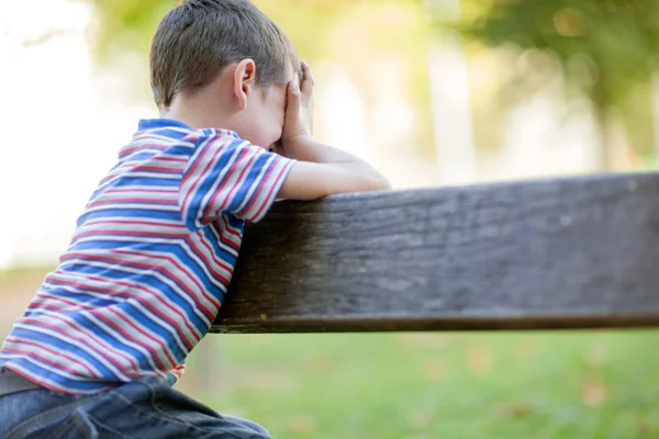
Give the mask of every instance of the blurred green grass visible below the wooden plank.
[(659, 438), (657, 331), (209, 337), (275, 438)]

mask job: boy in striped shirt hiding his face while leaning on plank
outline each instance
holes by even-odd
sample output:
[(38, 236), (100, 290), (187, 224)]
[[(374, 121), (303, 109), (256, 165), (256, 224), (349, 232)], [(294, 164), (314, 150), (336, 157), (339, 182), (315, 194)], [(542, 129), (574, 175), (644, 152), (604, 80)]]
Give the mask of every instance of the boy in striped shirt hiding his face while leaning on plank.
[(190, 0), (150, 53), (142, 121), (0, 350), (7, 438), (266, 438), (174, 391), (276, 198), (388, 189), (311, 138), (313, 77), (248, 0)]

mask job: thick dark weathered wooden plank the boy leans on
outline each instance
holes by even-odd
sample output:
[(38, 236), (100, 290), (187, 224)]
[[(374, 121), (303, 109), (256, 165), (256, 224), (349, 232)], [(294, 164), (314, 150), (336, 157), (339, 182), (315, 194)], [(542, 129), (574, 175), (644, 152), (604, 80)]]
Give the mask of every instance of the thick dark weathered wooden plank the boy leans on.
[(215, 333), (659, 326), (659, 175), (281, 202)]

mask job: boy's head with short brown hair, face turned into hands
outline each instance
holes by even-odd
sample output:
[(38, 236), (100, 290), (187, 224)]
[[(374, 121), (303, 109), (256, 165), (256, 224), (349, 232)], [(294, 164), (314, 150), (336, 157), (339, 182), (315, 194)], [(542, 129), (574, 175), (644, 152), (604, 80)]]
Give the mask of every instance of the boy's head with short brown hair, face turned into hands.
[(249, 0), (183, 0), (152, 43), (150, 81), (161, 113), (191, 98), (216, 110), (224, 125), (216, 127), (263, 147), (281, 136), (286, 86), (299, 69), (288, 37)]

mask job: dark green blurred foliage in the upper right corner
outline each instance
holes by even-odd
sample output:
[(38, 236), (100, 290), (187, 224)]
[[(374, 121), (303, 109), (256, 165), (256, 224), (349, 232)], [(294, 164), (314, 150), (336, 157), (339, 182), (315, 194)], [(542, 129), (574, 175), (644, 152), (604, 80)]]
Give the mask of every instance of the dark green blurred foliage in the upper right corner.
[(552, 54), (570, 86), (603, 106), (618, 106), (659, 66), (657, 0), (492, 0), (463, 30), (489, 45)]

